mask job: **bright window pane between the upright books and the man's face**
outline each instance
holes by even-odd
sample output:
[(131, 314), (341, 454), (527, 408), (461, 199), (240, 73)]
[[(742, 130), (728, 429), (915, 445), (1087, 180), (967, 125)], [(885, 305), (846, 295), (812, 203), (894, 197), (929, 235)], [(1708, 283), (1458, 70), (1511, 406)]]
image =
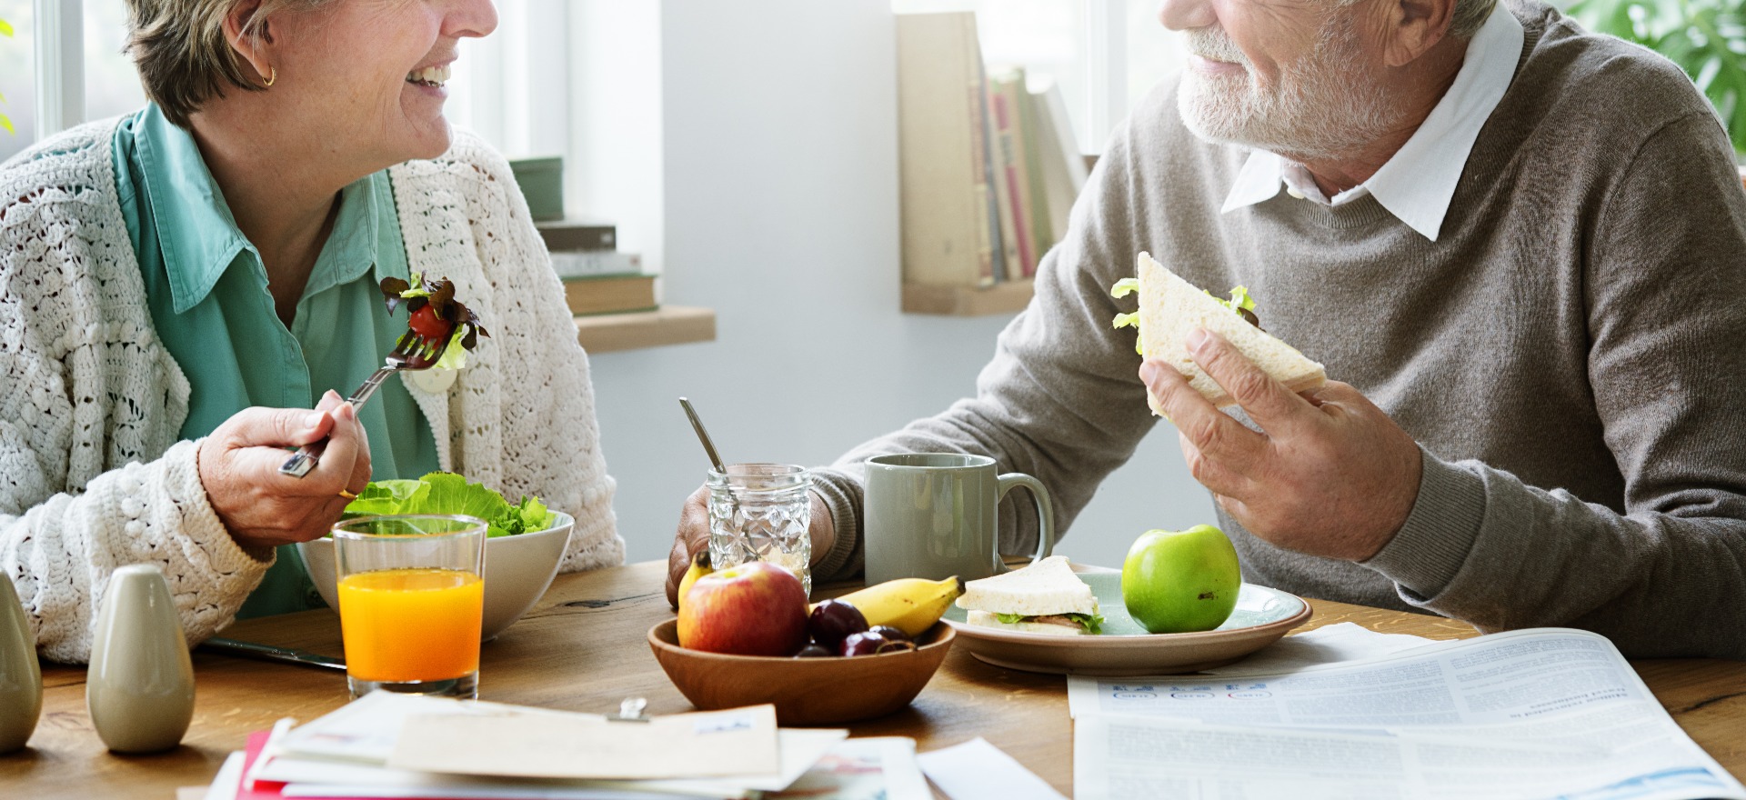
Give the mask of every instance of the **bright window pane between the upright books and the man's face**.
[(983, 58), (1025, 68), (1032, 91), (1058, 84), (1079, 148), (1102, 152), (1116, 124), (1182, 68), (1182, 40), (1158, 0), (892, 0), (897, 14), (974, 10)]

